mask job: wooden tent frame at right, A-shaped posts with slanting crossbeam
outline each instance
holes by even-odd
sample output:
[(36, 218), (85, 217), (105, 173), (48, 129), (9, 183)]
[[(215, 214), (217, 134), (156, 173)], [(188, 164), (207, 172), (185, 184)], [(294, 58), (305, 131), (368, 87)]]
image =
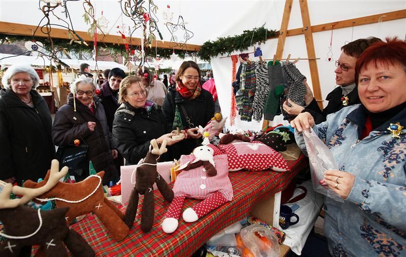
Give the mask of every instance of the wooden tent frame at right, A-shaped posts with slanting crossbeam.
[[(267, 39), (276, 38), (278, 37), (278, 45), (276, 51), (276, 59), (282, 59), (283, 50), (285, 46), (285, 39), (286, 36), (294, 36), (304, 34), (304, 39), (306, 41), (306, 48), (309, 58), (309, 66), (310, 66), (310, 76), (312, 79), (313, 85), (313, 94), (314, 97), (320, 106), (323, 108), (323, 100), (321, 97), (321, 89), (320, 89), (320, 79), (319, 79), (319, 72), (317, 68), (317, 61), (316, 61), (316, 54), (314, 48), (314, 41), (313, 41), (313, 32), (320, 32), (330, 30), (331, 28), (347, 28), (352, 26), (359, 26), (359, 25), (366, 25), (371, 23), (377, 23), (379, 21), (390, 21), (390, 20), (397, 20), (397, 19), (404, 19), (406, 18), (406, 9), (402, 9), (399, 11), (393, 11), (388, 13), (381, 13), (375, 14), (370, 16), (364, 16), (354, 19), (348, 19), (343, 21), (336, 21), (330, 22), (320, 25), (312, 26), (310, 23), (310, 16), (309, 16), (309, 8), (307, 0), (299, 0), (300, 5), (300, 13), (302, 18), (302, 28), (295, 28), (288, 30), (288, 24), (290, 19), (290, 13), (292, 10), (293, 0), (286, 0), (285, 1), (285, 9), (283, 12), (281, 29), (279, 31), (278, 36), (270, 36)], [(264, 119), (262, 123), (262, 128), (269, 125), (269, 120)]]

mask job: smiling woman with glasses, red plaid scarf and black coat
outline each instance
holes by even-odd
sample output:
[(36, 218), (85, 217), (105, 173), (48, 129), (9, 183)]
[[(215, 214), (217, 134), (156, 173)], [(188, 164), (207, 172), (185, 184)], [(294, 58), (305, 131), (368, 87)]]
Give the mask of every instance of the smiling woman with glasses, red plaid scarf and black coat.
[(187, 139), (177, 144), (175, 158), (190, 154), (201, 143), (197, 127), (205, 127), (214, 116), (213, 96), (200, 85), (200, 69), (193, 61), (183, 62), (176, 74), (176, 90), (170, 90), (163, 100), (162, 112), (172, 127), (176, 109), (181, 116)]

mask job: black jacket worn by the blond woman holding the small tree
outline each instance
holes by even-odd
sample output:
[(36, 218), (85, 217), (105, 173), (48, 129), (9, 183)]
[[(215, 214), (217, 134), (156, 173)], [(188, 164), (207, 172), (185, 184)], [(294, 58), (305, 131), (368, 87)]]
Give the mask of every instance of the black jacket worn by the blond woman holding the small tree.
[[(159, 105), (154, 104), (148, 112), (145, 108), (133, 108), (123, 103), (116, 111), (112, 134), (114, 144), (126, 160), (125, 164), (133, 165), (147, 155), (152, 139), (170, 132), (171, 127), (167, 125)], [(168, 152), (162, 154), (159, 161), (172, 159), (172, 147), (166, 148)]]

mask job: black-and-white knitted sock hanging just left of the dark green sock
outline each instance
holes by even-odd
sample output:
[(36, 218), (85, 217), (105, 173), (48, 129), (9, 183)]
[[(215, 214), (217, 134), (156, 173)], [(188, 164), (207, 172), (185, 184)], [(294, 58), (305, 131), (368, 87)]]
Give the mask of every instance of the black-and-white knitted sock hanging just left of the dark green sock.
[(257, 89), (255, 91), (254, 102), (252, 103), (253, 118), (256, 121), (262, 119), (263, 109), (265, 106), (265, 98), (269, 93), (269, 72), (268, 65), (263, 63), (256, 63), (255, 76), (257, 82)]

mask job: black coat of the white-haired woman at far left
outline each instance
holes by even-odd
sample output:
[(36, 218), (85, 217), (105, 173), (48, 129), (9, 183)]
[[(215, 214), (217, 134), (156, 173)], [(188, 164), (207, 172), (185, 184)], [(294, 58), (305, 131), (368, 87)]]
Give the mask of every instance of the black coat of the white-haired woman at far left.
[(52, 119), (37, 91), (30, 92), (34, 108), (11, 89), (0, 91), (0, 179), (37, 181), (44, 178), (55, 157)]

